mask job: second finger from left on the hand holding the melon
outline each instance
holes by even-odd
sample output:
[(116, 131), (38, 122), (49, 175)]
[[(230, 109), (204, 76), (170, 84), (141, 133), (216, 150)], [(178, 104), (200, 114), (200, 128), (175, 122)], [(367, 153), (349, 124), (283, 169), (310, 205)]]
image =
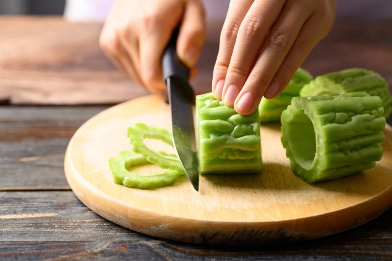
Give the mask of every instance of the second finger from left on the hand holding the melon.
[(284, 1), (264, 0), (254, 1), (249, 8), (238, 31), (230, 65), (227, 69), (222, 92), (225, 105), (234, 105), (234, 101), (257, 59), (260, 46), (278, 19), (283, 5)]

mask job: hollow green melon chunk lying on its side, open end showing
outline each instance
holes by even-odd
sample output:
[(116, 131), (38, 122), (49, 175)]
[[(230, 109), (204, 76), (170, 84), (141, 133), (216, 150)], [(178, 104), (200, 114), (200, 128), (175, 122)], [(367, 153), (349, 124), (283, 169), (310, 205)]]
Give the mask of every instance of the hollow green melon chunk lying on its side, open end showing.
[(364, 92), (294, 97), (281, 117), (292, 171), (315, 182), (373, 168), (383, 154), (383, 115), (380, 97)]

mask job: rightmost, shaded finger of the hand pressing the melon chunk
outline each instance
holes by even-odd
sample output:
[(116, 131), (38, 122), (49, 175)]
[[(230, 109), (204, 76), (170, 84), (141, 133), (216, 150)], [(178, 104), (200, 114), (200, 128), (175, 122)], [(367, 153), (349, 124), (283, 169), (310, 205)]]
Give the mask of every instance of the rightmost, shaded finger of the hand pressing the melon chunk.
[(271, 94), (267, 93), (267, 90), (264, 94), (266, 98), (271, 99), (276, 97), (289, 84), (296, 69), (301, 66), (316, 44), (327, 35), (333, 24), (333, 21), (329, 21), (330, 26), (325, 28), (325, 24), (321, 23), (315, 26), (317, 22), (316, 15), (313, 15), (305, 22), (285, 60), (271, 81), (272, 83), (278, 83), (278, 90), (274, 94), (272, 94), (273, 91), (271, 91)]

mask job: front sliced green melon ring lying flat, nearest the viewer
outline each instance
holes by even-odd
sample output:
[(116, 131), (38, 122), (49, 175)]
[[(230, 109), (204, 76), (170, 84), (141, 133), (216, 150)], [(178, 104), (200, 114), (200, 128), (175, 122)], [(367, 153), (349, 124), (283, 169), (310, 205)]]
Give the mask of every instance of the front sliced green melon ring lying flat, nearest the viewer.
[[(162, 156), (170, 156), (170, 154), (166, 152), (156, 153)], [(123, 184), (129, 188), (149, 189), (167, 186), (173, 184), (176, 178), (183, 175), (182, 173), (172, 170), (166, 170), (162, 174), (153, 175), (139, 175), (128, 171), (131, 166), (147, 163), (148, 161), (143, 155), (131, 151), (120, 152), (117, 157), (109, 159), (110, 170), (112, 171), (114, 182)]]

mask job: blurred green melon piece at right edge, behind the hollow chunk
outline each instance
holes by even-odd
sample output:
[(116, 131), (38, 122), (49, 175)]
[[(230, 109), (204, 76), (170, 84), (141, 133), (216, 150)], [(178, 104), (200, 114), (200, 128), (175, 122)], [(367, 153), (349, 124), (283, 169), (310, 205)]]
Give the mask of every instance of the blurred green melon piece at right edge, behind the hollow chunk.
[(324, 93), (348, 93), (363, 91), (371, 96), (380, 96), (384, 107), (384, 117), (392, 112), (392, 97), (388, 82), (378, 73), (363, 68), (350, 68), (316, 77), (305, 85), (300, 96), (315, 96)]

